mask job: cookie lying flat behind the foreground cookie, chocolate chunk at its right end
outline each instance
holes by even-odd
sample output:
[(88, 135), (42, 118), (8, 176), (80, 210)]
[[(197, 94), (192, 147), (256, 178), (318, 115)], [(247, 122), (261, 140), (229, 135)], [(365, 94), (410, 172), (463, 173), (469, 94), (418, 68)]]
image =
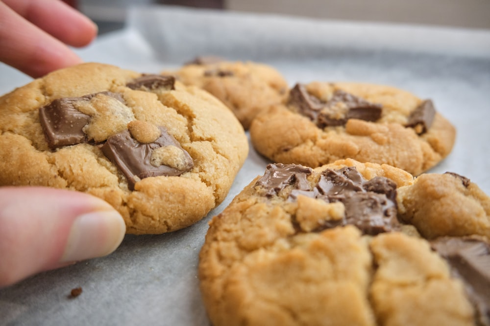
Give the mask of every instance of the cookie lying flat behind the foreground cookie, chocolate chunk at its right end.
[(250, 127), (253, 146), (273, 162), (315, 168), (353, 158), (414, 175), (446, 157), (455, 135), (431, 100), (362, 83), (296, 84), (285, 105), (259, 114)]

